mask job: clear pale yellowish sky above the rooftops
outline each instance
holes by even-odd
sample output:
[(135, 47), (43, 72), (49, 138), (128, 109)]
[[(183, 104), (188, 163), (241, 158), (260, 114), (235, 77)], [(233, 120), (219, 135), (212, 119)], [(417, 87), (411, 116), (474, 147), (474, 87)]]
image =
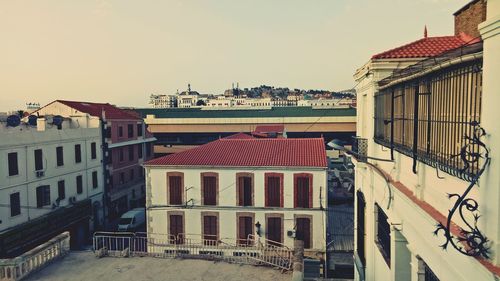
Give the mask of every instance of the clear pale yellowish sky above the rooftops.
[(342, 90), (371, 55), (453, 34), (468, 0), (0, 1), (0, 111), (146, 106), (187, 84)]

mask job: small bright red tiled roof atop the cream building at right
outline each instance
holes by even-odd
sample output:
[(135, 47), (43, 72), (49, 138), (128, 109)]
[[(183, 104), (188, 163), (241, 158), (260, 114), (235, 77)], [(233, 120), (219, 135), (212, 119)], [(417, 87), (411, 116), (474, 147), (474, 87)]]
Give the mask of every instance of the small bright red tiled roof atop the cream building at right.
[(372, 59), (426, 58), (456, 49), (469, 43), (466, 35), (425, 37), (409, 44), (372, 56)]

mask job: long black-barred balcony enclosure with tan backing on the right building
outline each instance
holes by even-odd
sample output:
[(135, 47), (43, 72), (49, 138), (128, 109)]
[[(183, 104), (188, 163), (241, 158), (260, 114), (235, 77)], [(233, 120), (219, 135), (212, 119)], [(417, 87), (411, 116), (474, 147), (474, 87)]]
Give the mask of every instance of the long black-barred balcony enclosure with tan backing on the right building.
[[(470, 181), (480, 163), (461, 150), (480, 123), (482, 59), (394, 84), (375, 95), (375, 141)], [(472, 147), (479, 152), (479, 146)]]

